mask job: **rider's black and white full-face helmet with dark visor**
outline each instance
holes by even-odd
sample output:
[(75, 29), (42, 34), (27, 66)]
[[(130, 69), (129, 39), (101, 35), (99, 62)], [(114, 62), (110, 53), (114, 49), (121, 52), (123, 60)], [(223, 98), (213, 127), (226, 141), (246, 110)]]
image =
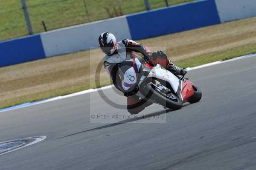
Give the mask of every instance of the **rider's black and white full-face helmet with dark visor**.
[(107, 55), (112, 55), (117, 47), (116, 37), (111, 32), (103, 32), (99, 35), (99, 46)]

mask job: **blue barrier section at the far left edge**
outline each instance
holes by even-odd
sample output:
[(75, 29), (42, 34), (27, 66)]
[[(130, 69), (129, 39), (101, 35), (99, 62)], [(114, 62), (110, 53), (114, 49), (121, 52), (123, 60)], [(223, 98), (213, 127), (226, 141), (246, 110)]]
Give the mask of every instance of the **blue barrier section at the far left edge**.
[(0, 42), (0, 66), (45, 58), (40, 35)]

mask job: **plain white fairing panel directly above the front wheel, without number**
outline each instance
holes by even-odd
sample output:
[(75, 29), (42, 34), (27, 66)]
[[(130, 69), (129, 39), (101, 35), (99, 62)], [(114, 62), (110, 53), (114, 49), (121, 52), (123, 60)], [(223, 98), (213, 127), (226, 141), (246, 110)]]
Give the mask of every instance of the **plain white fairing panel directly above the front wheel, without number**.
[(159, 64), (157, 64), (157, 66), (151, 69), (151, 72), (148, 74), (148, 77), (154, 77), (169, 82), (174, 92), (177, 92), (180, 80), (171, 72), (162, 69)]

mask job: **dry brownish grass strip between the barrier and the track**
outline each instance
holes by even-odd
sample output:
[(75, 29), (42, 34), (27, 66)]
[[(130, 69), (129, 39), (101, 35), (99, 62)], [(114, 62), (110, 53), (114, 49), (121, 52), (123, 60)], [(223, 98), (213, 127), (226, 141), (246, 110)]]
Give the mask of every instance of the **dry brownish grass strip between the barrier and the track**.
[[(233, 58), (256, 52), (256, 17), (139, 42), (154, 50), (166, 47), (180, 66)], [(93, 49), (0, 68), (0, 108), (95, 87), (103, 56)], [(101, 80), (110, 84), (104, 69)]]

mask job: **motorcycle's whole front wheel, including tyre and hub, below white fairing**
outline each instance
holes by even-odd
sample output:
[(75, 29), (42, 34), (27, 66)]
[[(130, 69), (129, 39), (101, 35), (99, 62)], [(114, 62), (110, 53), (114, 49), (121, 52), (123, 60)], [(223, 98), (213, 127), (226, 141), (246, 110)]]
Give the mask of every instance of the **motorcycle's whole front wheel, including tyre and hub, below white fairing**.
[(156, 103), (159, 103), (164, 107), (175, 110), (182, 107), (182, 102), (180, 101), (180, 98), (178, 98), (172, 92), (164, 93), (152, 84), (148, 84), (145, 89), (145, 92), (147, 92), (147, 98), (154, 100)]

